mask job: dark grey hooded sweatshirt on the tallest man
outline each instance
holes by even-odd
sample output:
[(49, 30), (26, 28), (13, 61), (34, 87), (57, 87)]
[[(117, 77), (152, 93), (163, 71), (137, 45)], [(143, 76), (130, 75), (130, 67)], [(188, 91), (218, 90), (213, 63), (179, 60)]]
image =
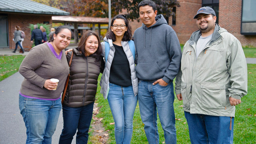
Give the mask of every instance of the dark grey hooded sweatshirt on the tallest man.
[(175, 31), (167, 25), (162, 14), (156, 16), (151, 27), (135, 30), (133, 35), (136, 56), (135, 71), (139, 79), (154, 82), (163, 79), (170, 83), (179, 72), (181, 46)]

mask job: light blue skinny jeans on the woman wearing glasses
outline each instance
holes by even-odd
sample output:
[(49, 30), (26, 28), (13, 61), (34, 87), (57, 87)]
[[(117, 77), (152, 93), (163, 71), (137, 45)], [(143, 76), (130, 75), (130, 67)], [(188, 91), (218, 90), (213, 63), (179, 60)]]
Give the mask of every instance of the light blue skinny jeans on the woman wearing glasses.
[(109, 84), (108, 103), (115, 121), (116, 144), (130, 144), (133, 135), (133, 115), (138, 97), (134, 96), (133, 86)]

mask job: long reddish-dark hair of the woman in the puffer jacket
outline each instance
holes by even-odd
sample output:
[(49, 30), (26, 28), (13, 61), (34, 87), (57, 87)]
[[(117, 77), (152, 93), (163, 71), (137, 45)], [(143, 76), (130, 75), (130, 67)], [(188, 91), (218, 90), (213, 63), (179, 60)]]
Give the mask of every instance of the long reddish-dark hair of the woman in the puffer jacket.
[(87, 41), (87, 38), (91, 35), (96, 36), (96, 38), (98, 40), (98, 49), (96, 50), (95, 54), (97, 54), (96, 61), (100, 61), (102, 48), (101, 48), (101, 44), (100, 44), (100, 38), (97, 35), (97, 33), (95, 33), (94, 31), (86, 31), (85, 33), (83, 33), (83, 35), (81, 36), (80, 42), (78, 44), (78, 50), (79, 50), (79, 52), (82, 52), (83, 56), (85, 56), (86, 41)]

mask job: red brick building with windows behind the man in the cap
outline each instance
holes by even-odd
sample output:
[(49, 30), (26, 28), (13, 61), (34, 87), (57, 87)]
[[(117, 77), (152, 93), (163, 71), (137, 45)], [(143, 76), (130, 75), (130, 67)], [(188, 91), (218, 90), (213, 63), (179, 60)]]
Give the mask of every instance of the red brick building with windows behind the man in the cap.
[[(154, 1), (154, 0), (153, 0)], [(256, 0), (177, 0), (180, 7), (174, 9), (176, 17), (169, 17), (169, 25), (175, 30), (181, 44), (198, 30), (194, 15), (202, 6), (210, 6), (216, 12), (222, 28), (237, 37), (243, 46), (256, 47)], [(133, 32), (141, 22), (131, 22)]]

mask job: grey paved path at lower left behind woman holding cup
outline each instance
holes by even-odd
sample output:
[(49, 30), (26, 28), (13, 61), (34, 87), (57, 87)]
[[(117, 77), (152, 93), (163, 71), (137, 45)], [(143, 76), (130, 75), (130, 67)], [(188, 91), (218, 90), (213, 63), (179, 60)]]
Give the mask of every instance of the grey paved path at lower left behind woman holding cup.
[[(24, 77), (17, 72), (0, 81), (0, 144), (26, 143), (26, 127), (19, 110), (19, 89), (23, 79)], [(63, 117), (60, 111), (52, 144), (58, 144), (62, 128)], [(72, 144), (75, 144), (75, 136)]]

